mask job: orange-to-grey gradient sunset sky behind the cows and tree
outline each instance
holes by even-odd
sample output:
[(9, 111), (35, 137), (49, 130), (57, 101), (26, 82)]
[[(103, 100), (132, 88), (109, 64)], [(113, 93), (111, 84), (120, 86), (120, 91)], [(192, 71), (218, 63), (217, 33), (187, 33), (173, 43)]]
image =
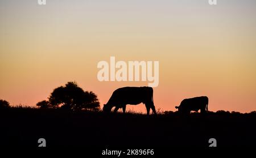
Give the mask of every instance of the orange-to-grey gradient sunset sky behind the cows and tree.
[[(209, 97), (209, 110), (256, 110), (256, 1), (0, 1), (0, 99), (34, 106), (76, 81), (106, 104), (119, 87), (97, 63), (159, 61), (156, 109)], [(127, 109), (146, 112), (144, 105)]]

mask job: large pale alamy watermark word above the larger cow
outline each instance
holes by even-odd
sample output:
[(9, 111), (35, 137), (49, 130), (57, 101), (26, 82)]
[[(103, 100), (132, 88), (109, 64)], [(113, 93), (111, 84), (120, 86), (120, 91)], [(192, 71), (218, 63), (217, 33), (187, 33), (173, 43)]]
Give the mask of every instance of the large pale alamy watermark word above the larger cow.
[(159, 84), (159, 61), (154, 61), (154, 75), (152, 61), (129, 61), (127, 64), (125, 61), (115, 62), (115, 57), (110, 57), (110, 65), (100, 61), (97, 67), (101, 69), (97, 75), (99, 81), (148, 81), (150, 87)]

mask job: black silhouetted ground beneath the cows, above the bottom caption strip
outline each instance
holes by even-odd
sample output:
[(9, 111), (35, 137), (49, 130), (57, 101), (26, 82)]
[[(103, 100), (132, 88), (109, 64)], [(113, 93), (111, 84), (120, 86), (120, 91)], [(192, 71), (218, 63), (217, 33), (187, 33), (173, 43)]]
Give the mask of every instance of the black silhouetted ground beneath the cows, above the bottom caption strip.
[(104, 114), (61, 109), (0, 110), (0, 146), (38, 147), (246, 147), (256, 142), (256, 113)]

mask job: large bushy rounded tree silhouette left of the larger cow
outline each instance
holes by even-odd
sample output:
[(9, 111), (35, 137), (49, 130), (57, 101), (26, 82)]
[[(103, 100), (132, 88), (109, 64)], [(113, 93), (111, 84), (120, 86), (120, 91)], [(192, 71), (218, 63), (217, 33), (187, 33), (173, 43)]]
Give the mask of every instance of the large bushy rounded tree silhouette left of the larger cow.
[(84, 91), (76, 82), (68, 82), (65, 86), (53, 89), (49, 96), (49, 104), (63, 109), (99, 110), (100, 103), (93, 92)]

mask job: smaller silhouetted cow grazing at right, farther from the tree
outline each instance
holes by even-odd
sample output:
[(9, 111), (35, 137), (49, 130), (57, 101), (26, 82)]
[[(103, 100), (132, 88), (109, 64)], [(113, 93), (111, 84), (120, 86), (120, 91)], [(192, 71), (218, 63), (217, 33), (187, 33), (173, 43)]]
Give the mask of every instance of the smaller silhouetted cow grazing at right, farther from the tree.
[(200, 96), (184, 99), (181, 101), (180, 106), (175, 106), (175, 108), (178, 109), (180, 113), (190, 113), (191, 111), (198, 112), (199, 109), (201, 113), (205, 113), (208, 111), (208, 97)]

